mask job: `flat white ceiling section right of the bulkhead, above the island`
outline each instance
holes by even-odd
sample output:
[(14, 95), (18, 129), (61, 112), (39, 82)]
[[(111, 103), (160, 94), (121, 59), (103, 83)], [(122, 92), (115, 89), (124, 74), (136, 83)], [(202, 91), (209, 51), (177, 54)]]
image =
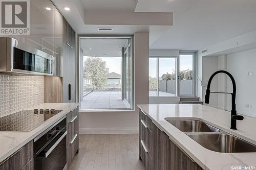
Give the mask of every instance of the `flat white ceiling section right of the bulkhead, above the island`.
[(151, 49), (200, 50), (256, 30), (255, 0), (139, 0), (137, 11), (174, 12), (174, 25)]

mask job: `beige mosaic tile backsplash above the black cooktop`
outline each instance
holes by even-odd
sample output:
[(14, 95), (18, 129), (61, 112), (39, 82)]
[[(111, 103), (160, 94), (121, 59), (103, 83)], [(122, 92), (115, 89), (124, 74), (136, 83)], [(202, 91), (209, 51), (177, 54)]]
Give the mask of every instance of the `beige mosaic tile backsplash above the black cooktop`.
[(0, 75), (0, 116), (44, 103), (44, 76)]

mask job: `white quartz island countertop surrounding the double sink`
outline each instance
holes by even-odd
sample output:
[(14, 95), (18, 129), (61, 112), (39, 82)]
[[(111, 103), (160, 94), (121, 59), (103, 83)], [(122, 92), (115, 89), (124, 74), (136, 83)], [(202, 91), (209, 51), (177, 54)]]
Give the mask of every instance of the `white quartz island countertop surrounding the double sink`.
[(256, 118), (244, 116), (237, 121), (238, 130), (231, 130), (230, 112), (200, 104), (138, 105), (153, 122), (161, 128), (203, 169), (256, 169), (256, 153), (219, 153), (202, 147), (164, 118), (195, 118), (227, 133), (256, 144)]

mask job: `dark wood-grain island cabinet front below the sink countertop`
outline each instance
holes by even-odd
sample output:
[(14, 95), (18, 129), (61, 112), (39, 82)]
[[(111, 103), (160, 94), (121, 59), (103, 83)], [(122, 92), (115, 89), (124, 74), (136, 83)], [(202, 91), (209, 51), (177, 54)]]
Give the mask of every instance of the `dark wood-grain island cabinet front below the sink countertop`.
[(139, 155), (146, 170), (202, 169), (141, 110), (139, 121)]

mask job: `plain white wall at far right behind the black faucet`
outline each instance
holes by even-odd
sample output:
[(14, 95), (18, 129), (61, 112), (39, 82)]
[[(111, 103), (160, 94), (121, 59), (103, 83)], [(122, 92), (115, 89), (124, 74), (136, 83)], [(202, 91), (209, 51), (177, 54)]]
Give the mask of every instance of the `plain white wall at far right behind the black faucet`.
[[(236, 80), (237, 84), (237, 111), (240, 114), (256, 117), (256, 48), (244, 52), (234, 53), (226, 56), (227, 71)], [(247, 73), (252, 72), (252, 76)], [(232, 84), (227, 79), (227, 91), (232, 91)], [(223, 87), (224, 88), (224, 87)], [(246, 108), (246, 105), (252, 105), (252, 108)], [(231, 96), (226, 99), (226, 108), (230, 110)]]

